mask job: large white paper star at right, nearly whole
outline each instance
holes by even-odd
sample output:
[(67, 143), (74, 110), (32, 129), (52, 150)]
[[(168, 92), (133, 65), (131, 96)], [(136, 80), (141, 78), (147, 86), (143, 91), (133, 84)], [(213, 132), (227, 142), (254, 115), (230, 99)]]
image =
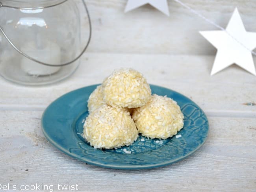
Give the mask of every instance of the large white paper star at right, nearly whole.
[(251, 52), (256, 48), (256, 33), (245, 30), (237, 8), (226, 27), (226, 31), (199, 32), (217, 48), (211, 75), (232, 64), (256, 75)]

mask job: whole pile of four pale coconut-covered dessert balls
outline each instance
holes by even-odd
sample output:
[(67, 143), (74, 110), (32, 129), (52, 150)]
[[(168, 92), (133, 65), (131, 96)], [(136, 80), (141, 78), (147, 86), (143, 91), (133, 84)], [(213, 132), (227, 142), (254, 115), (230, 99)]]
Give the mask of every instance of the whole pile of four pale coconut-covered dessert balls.
[(183, 114), (171, 98), (151, 95), (143, 75), (130, 68), (115, 70), (89, 96), (83, 137), (94, 148), (128, 146), (138, 133), (166, 139), (183, 127)]

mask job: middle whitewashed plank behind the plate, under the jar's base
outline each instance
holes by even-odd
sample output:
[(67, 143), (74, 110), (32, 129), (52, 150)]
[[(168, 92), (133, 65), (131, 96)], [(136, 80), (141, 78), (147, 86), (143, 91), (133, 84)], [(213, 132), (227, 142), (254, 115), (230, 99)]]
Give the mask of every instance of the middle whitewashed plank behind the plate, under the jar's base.
[(50, 86), (22, 87), (0, 79), (0, 109), (43, 110), (59, 96), (101, 83), (120, 67), (139, 70), (151, 84), (176, 90), (213, 116), (256, 117), (256, 78), (237, 66), (210, 76), (213, 56), (86, 53), (69, 79)]

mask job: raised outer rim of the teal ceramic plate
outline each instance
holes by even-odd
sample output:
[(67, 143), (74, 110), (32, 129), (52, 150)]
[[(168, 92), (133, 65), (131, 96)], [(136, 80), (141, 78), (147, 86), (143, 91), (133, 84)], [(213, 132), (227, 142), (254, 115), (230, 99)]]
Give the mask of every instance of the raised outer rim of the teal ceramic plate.
[[(88, 163), (88, 164), (91, 164), (91, 165), (95, 165), (95, 166), (100, 166), (102, 168), (110, 168), (110, 169), (117, 169), (117, 170), (139, 170), (139, 169), (151, 169), (151, 168), (158, 168), (158, 167), (161, 167), (161, 166), (167, 166), (167, 165), (170, 165), (170, 164), (173, 164), (175, 162), (178, 162), (178, 161), (181, 161), (185, 158), (187, 158), (188, 156), (190, 156), (191, 154), (193, 154), (195, 151), (197, 151), (207, 140), (208, 138), (208, 133), (209, 133), (209, 121), (208, 121), (208, 118), (206, 116), (206, 114), (204, 113), (204, 111), (197, 105), (197, 103), (193, 102), (190, 98), (184, 96), (183, 94), (179, 93), (179, 92), (176, 92), (175, 90), (172, 90), (172, 89), (169, 89), (167, 87), (162, 87), (162, 86), (159, 86), (159, 85), (154, 85), (154, 84), (150, 84), (150, 86), (156, 86), (156, 87), (160, 87), (160, 88), (164, 88), (164, 89), (168, 89), (168, 90), (171, 90), (172, 92), (176, 92), (178, 94), (180, 94), (181, 96), (191, 100), (204, 114), (205, 114), (205, 117), (206, 117), (206, 120), (207, 120), (207, 133), (206, 133), (206, 137), (205, 139), (203, 140), (203, 142), (201, 144), (199, 144), (197, 146), (197, 148), (195, 148), (193, 151), (190, 151), (189, 153), (187, 153), (186, 155), (184, 155), (183, 157), (180, 157), (178, 159), (174, 159), (174, 160), (170, 160), (170, 161), (165, 161), (165, 162), (161, 162), (161, 163), (158, 163), (158, 164), (147, 164), (147, 165), (130, 165), (127, 164), (125, 166), (120, 166), (120, 165), (108, 165), (108, 164), (103, 164), (103, 163), (100, 163), (100, 162), (94, 162), (94, 161), (90, 161), (89, 159), (83, 159), (81, 157), (78, 157), (76, 155), (76, 153), (70, 153), (69, 150), (61, 147), (57, 142), (55, 142), (54, 140), (52, 140), (48, 135), (47, 133), (45, 132), (45, 128), (43, 127), (43, 118), (45, 116), (45, 113), (47, 111), (47, 109), (52, 105), (52, 103), (56, 102), (57, 100), (59, 100), (60, 98), (64, 97), (65, 95), (67, 94), (70, 94), (72, 92), (75, 92), (77, 90), (81, 90), (81, 89), (84, 89), (86, 87), (94, 87), (94, 86), (98, 86), (98, 85), (101, 85), (101, 84), (94, 84), (94, 85), (89, 85), (89, 86), (85, 86), (85, 87), (81, 87), (79, 89), (75, 89), (75, 90), (72, 90), (72, 91), (69, 91), (63, 95), (61, 95), (60, 97), (58, 97), (57, 99), (55, 99), (53, 102), (51, 102), (45, 109), (45, 111), (43, 112), (42, 116), (41, 116), (41, 129), (42, 129), (42, 132), (43, 134), (45, 135), (46, 139), (54, 146), (56, 147), (58, 150), (62, 151), (63, 153), (65, 153), (66, 155), (69, 155), (70, 157), (73, 157), (74, 159), (77, 159), (79, 161), (82, 161), (82, 162), (85, 162), (85, 163)], [(174, 136), (173, 136), (174, 137)]]

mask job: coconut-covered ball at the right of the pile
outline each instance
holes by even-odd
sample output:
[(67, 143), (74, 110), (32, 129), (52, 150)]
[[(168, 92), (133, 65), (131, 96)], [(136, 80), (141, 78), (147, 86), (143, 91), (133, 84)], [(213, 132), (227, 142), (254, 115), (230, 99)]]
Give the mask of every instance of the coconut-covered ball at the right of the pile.
[(139, 133), (149, 138), (172, 137), (184, 125), (184, 116), (177, 103), (156, 94), (146, 105), (135, 109), (132, 118)]

